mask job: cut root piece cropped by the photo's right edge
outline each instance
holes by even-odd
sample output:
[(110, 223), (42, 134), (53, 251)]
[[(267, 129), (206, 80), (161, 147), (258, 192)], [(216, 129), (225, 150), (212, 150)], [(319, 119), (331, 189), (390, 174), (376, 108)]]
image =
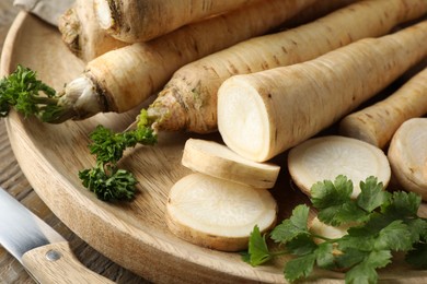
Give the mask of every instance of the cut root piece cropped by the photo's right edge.
[(427, 118), (406, 120), (394, 133), (389, 146), (393, 175), (407, 191), (427, 201)]

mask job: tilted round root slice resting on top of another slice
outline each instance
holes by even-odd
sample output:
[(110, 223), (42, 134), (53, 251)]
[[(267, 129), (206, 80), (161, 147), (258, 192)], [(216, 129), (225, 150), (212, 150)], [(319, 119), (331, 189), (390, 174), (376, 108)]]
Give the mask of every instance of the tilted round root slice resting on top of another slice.
[(214, 141), (188, 139), (182, 164), (195, 171), (255, 188), (273, 188), (280, 167), (256, 163)]

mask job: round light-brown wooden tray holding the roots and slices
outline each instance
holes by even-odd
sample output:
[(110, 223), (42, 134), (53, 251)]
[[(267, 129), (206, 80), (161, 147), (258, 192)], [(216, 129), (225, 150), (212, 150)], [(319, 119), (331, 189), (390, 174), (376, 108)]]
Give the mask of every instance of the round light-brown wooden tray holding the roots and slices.
[[(37, 17), (22, 12), (4, 44), (1, 75), (16, 64), (36, 70), (38, 76), (57, 90), (84, 68), (62, 45), (59, 32)], [(139, 193), (129, 203), (105, 203), (80, 182), (78, 171), (94, 165), (89, 154), (88, 134), (100, 123), (125, 129), (137, 110), (101, 114), (84, 121), (62, 125), (23, 119), (12, 113), (7, 119), (9, 138), (22, 170), (51, 211), (77, 235), (118, 264), (154, 282), (242, 283), (285, 282), (284, 259), (252, 268), (239, 253), (200, 248), (176, 238), (164, 223), (168, 191), (191, 171), (181, 165), (184, 142), (189, 134), (163, 133), (153, 147), (137, 146), (126, 153), (122, 166), (138, 177)], [(218, 139), (209, 135), (207, 139)], [(305, 196), (290, 187), (286, 156), (275, 161), (282, 173), (273, 194), (279, 202), (279, 221), (289, 215)], [(423, 208), (424, 212), (426, 208)], [(343, 282), (342, 273), (316, 272), (316, 282)], [(384, 280), (425, 282), (427, 272), (393, 264), (381, 272)]]

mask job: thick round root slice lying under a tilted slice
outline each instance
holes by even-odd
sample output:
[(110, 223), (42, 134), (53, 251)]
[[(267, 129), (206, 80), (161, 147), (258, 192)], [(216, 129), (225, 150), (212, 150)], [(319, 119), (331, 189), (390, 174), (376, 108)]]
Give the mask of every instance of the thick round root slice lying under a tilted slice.
[(191, 174), (169, 193), (166, 224), (177, 237), (222, 251), (247, 248), (254, 226), (270, 229), (277, 218), (277, 203), (266, 189)]

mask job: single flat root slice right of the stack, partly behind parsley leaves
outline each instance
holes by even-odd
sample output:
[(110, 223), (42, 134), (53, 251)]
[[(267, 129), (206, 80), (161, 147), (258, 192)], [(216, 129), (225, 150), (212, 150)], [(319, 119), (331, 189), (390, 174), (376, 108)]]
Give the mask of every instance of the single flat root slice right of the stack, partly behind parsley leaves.
[(289, 174), (308, 196), (311, 187), (344, 175), (354, 184), (351, 198), (360, 193), (360, 181), (374, 176), (384, 188), (391, 178), (389, 161), (379, 147), (354, 138), (328, 135), (313, 138), (289, 151)]

